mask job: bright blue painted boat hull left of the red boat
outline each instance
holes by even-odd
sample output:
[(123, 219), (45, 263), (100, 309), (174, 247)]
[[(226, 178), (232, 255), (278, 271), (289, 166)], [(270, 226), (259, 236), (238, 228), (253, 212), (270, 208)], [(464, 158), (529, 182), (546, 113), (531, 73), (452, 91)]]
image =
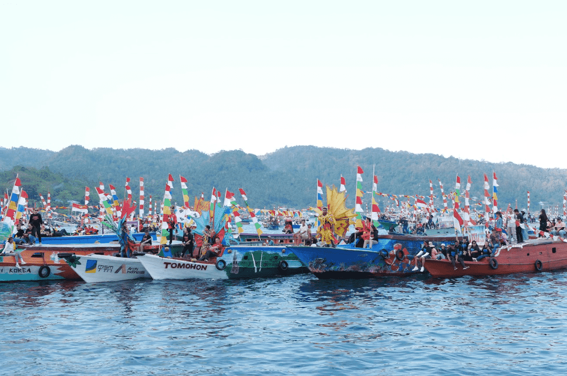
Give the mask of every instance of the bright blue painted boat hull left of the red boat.
[(287, 246), (319, 279), (361, 279), (382, 276), (404, 276), (416, 266), (414, 256), (424, 241), (454, 242), (455, 236), (382, 235), (371, 249), (354, 244), (331, 247)]

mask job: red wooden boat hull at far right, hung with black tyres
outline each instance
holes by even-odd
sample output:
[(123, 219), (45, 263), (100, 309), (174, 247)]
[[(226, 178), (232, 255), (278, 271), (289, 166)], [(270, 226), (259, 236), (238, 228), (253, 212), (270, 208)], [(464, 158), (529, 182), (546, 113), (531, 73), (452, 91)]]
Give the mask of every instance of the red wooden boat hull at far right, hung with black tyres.
[(425, 260), (426, 270), (434, 277), (485, 276), (512, 273), (532, 273), (567, 268), (567, 242), (544, 238), (530, 240), (519, 245), (503, 246), (495, 257), (480, 261), (466, 261), (467, 269), (456, 263), (454, 270), (450, 260)]

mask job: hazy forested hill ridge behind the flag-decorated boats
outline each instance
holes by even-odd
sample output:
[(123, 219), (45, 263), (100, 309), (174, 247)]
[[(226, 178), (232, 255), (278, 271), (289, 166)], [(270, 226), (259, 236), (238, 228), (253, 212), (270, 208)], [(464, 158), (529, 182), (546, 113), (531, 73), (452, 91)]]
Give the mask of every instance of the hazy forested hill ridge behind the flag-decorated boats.
[[(122, 197), (126, 176), (131, 179), (130, 187), (136, 197), (138, 178), (143, 177), (147, 203), (149, 195), (153, 195), (154, 202), (156, 198), (163, 198), (167, 175), (171, 173), (175, 178), (173, 198), (178, 204), (183, 202), (179, 184), (181, 175), (188, 180), (191, 203), (193, 197), (201, 192), (209, 199), (214, 186), (223, 194), (227, 187), (236, 193), (238, 188), (243, 188), (248, 194), (249, 204), (257, 208), (303, 208), (315, 205), (317, 179), (338, 187), (342, 174), (349, 193), (347, 203), (354, 206), (357, 165), (364, 170), (362, 186), (366, 191), (372, 188), (373, 168), (378, 176), (378, 190), (383, 193), (428, 196), (429, 180), (432, 180), (437, 196), (436, 207), (442, 206), (438, 179), (443, 183), (445, 193), (448, 193), (455, 189), (457, 174), (461, 178), (462, 190), (466, 186), (467, 176), (471, 176), (471, 198), (481, 200), (484, 196), (484, 173), (489, 177), (492, 193), (492, 172), (496, 172), (499, 206), (505, 207), (508, 203), (515, 206), (517, 199), (519, 208), (526, 207), (529, 190), (532, 212), (539, 210), (539, 202), (545, 202), (545, 208), (551, 204), (558, 205), (562, 210), (562, 197), (567, 188), (565, 169), (460, 160), (380, 148), (350, 150), (314, 146), (286, 147), (264, 156), (238, 150), (206, 155), (197, 150), (179, 152), (173, 148), (88, 150), (81, 146), (70, 146), (60, 152), (22, 147), (0, 148), (0, 167), (3, 171), (0, 183), (11, 190), (11, 183), (21, 170), (15, 166), (25, 166), (28, 176), (36, 174), (43, 177), (42, 187), (28, 189), (32, 202), (39, 200), (35, 192), (45, 193), (44, 189), (48, 189), (55, 202), (60, 200), (66, 204), (68, 199), (82, 202), (86, 185), (91, 187), (92, 197), (95, 194), (94, 186), (99, 181), (107, 188), (109, 183), (114, 185), (117, 194)], [(65, 190), (62, 189), (61, 179), (66, 179)], [(24, 186), (32, 184), (25, 180), (22, 183)], [(33, 180), (33, 184), (36, 183), (37, 180)], [(70, 189), (70, 185), (77, 187)], [(236, 197), (242, 203), (238, 194)], [(365, 195), (365, 202), (369, 201), (370, 196)]]

